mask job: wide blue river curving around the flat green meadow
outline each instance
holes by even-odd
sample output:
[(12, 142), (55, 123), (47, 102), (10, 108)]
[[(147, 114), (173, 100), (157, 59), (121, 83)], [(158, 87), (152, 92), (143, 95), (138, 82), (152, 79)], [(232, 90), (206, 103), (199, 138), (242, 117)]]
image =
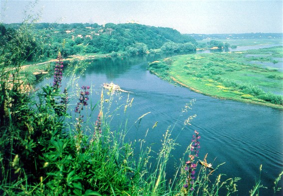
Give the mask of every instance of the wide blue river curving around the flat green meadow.
[[(267, 45), (265, 47), (268, 47)], [(238, 47), (238, 50), (254, 49), (263, 46)], [(208, 51), (200, 51), (208, 52)], [(99, 99), (99, 91), (104, 82), (113, 81), (122, 89), (130, 91), (134, 98), (132, 107), (127, 110), (128, 134), (131, 141), (143, 139), (153, 148), (160, 147), (162, 135), (170, 127), (172, 138), (180, 144), (173, 150), (173, 157), (168, 163), (168, 178), (174, 175), (174, 162), (183, 156), (190, 144), (194, 130), (200, 132), (200, 159), (208, 153), (208, 162), (221, 165), (214, 175), (225, 173), (223, 179), (241, 177), (238, 181), (238, 194), (249, 195), (249, 190), (260, 176), (264, 186), (261, 195), (273, 195), (274, 180), (283, 171), (283, 111), (267, 106), (224, 100), (209, 97), (163, 81), (147, 70), (148, 62), (173, 54), (147, 54), (137, 56), (119, 56), (93, 59), (84, 74), (78, 79), (79, 86), (92, 85), (90, 97), (93, 104)], [(68, 83), (69, 77), (64, 78)], [(51, 83), (50, 80), (40, 82)], [(64, 84), (63, 84), (64, 85)], [(114, 104), (125, 103), (128, 93), (122, 92)], [(194, 100), (191, 110), (182, 112), (186, 103)], [(124, 107), (123, 107), (124, 108)], [(123, 113), (123, 108), (120, 113)], [(140, 121), (135, 121), (148, 113)], [(184, 128), (184, 120), (196, 114), (190, 126)], [(112, 120), (115, 127), (121, 116)], [(93, 118), (95, 120), (95, 117)], [(152, 128), (155, 122), (158, 124)], [(135, 123), (135, 124), (134, 124)], [(148, 132), (147, 132), (148, 129)], [(186, 157), (187, 158), (187, 157)], [(283, 181), (283, 180), (282, 180)], [(279, 187), (283, 187), (282, 181)], [(283, 195), (283, 191), (276, 195)]]

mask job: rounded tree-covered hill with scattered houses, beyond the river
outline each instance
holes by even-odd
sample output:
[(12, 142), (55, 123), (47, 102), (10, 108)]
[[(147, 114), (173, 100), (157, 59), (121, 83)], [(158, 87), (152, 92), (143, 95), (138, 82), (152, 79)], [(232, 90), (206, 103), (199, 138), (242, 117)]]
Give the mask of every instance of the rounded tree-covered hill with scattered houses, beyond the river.
[[(21, 24), (3, 24), (5, 32), (18, 29)], [(38, 42), (43, 42), (46, 57), (55, 57), (60, 50), (64, 56), (86, 53), (126, 52), (145, 53), (151, 49), (163, 51), (192, 51), (196, 40), (173, 28), (147, 26), (137, 23), (35, 23), (32, 25)], [(162, 48), (163, 46), (163, 48)]]

